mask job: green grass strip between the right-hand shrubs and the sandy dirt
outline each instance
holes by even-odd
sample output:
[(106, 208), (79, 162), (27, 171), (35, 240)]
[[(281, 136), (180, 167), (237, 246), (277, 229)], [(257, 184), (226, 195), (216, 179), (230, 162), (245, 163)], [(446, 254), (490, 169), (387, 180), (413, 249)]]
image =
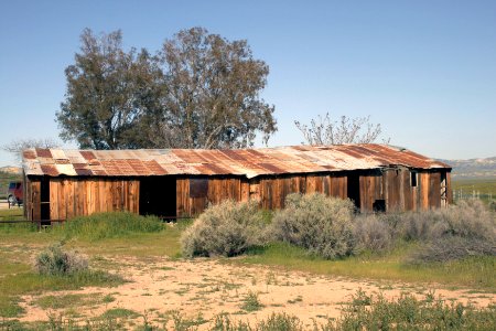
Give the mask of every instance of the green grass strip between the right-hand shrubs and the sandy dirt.
[(351, 278), (371, 278), (408, 282), (439, 282), (450, 286), (481, 288), (496, 292), (496, 257), (471, 257), (439, 264), (406, 263), (419, 244), (402, 244), (389, 253), (365, 253), (339, 260), (326, 260), (309, 255), (303, 248), (273, 243), (251, 250), (235, 264), (261, 264), (290, 270), (310, 271)]

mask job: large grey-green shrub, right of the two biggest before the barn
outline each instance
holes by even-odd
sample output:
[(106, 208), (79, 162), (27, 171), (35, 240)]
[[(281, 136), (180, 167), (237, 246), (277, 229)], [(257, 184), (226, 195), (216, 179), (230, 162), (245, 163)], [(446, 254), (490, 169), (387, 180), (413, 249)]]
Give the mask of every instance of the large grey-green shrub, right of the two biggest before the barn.
[(324, 258), (353, 254), (353, 202), (324, 194), (289, 194), (285, 207), (272, 220), (271, 234)]

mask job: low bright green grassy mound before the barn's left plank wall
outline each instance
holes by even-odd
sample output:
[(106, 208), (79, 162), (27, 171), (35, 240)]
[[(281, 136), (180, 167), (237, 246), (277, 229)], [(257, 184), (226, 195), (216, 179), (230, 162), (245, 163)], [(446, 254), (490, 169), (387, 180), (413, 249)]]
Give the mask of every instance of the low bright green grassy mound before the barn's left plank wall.
[(84, 237), (91, 241), (123, 237), (136, 233), (153, 233), (164, 229), (157, 216), (140, 216), (129, 212), (96, 213), (68, 220), (54, 231), (67, 237)]

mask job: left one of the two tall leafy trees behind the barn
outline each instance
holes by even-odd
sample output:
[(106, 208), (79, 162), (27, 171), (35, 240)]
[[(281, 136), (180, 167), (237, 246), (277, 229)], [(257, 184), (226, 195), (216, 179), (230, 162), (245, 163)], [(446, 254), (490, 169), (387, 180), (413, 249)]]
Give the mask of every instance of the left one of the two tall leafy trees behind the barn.
[(65, 70), (67, 92), (56, 115), (61, 138), (82, 148), (139, 147), (133, 128), (141, 115), (137, 93), (148, 52), (125, 52), (120, 31), (97, 38), (86, 29), (80, 42), (75, 64)]

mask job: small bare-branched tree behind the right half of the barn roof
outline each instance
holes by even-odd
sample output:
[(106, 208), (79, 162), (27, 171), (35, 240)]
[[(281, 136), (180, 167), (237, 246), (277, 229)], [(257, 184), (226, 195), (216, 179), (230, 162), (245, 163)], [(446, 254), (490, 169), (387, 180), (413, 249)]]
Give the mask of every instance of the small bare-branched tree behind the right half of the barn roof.
[[(341, 120), (332, 120), (325, 114), (312, 119), (310, 126), (295, 120), (294, 125), (303, 134), (309, 145), (342, 145), (342, 143), (370, 143), (382, 132), (380, 124), (371, 124), (370, 116), (349, 118), (342, 116)], [(388, 143), (390, 139), (386, 139)]]

